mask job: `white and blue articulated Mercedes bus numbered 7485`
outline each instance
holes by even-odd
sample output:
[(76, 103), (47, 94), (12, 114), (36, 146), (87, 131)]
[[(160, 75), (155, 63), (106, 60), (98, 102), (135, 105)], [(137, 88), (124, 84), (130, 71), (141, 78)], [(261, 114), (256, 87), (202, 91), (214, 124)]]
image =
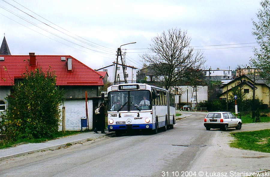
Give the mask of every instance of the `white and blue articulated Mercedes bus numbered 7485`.
[(108, 130), (119, 136), (135, 129), (157, 134), (175, 124), (175, 97), (168, 90), (147, 84), (108, 87)]

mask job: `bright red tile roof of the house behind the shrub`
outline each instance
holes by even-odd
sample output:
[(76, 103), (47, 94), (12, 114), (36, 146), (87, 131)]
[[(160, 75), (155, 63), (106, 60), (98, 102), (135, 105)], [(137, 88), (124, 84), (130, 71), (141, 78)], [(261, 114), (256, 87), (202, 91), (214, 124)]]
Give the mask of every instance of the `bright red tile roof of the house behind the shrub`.
[[(58, 86), (103, 86), (102, 76), (75, 58), (65, 55), (36, 55), (36, 65), (29, 66), (29, 55), (0, 55), (0, 86), (12, 86), (14, 78), (22, 78), (27, 70), (41, 67), (53, 71)], [(65, 61), (61, 61), (65, 57)], [(67, 58), (72, 58), (72, 70), (67, 70)], [(3, 58), (2, 58), (3, 59)]]

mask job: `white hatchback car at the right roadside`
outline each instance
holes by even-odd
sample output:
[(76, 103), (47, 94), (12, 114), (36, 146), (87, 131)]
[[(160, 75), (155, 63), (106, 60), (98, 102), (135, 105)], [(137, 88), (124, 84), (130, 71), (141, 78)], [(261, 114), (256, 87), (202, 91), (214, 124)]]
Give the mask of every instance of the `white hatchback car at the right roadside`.
[(222, 130), (236, 128), (240, 130), (242, 120), (238, 119), (230, 112), (211, 112), (205, 117), (204, 126), (206, 130), (210, 130), (211, 128), (220, 128)]

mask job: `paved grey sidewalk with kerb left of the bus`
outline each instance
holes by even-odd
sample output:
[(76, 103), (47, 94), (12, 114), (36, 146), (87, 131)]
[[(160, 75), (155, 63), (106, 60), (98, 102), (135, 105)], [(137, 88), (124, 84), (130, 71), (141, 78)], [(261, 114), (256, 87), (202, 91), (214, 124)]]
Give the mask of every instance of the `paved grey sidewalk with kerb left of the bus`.
[(21, 144), (21, 145), (6, 148), (6, 149), (0, 149), (0, 161), (7, 158), (13, 158), (19, 155), (29, 154), (32, 152), (55, 150), (55, 149), (58, 149), (59, 147), (66, 146), (68, 143), (70, 144), (79, 143), (79, 142), (83, 142), (89, 139), (95, 139), (98, 137), (108, 136), (114, 133), (114, 132), (108, 133), (107, 129), (105, 130), (105, 132), (106, 134), (101, 134), (100, 132), (99, 134), (96, 134), (93, 131), (91, 131), (91, 132), (75, 134), (75, 135), (71, 135), (67, 137), (61, 137), (59, 139), (47, 141), (44, 143), (28, 143), (28, 144)]

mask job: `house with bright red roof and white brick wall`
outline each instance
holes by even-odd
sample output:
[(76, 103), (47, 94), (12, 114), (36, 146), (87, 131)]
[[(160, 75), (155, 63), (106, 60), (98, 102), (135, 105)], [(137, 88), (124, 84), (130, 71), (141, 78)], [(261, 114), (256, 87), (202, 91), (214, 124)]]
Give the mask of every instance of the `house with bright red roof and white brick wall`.
[[(101, 102), (98, 87), (103, 86), (103, 75), (70, 55), (6, 55), (0, 53), (0, 109), (7, 106), (5, 97), (22, 79), (26, 71), (41, 68), (56, 75), (56, 85), (65, 90), (65, 129), (80, 130), (81, 117), (86, 116), (85, 91), (87, 91), (88, 125), (93, 128), (95, 108)], [(61, 125), (60, 125), (61, 126)], [(59, 127), (61, 129), (61, 127)]]

